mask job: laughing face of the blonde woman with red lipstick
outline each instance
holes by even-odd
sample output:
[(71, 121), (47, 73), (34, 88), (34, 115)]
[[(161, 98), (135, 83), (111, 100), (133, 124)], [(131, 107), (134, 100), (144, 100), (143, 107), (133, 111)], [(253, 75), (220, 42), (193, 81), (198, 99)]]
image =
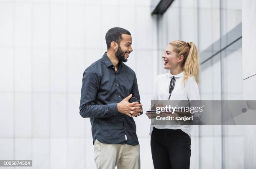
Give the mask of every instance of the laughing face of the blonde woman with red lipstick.
[(176, 52), (174, 52), (174, 47), (172, 45), (167, 45), (162, 58), (164, 59), (164, 69), (167, 70), (175, 69), (183, 60), (183, 58), (181, 58)]

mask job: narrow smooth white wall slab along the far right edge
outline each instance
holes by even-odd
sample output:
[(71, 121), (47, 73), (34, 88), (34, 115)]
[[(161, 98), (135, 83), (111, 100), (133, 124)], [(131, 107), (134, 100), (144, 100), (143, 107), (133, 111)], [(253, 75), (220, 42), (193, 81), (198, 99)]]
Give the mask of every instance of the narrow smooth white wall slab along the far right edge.
[[(242, 1), (243, 99), (256, 100), (256, 2)], [(244, 168), (256, 167), (256, 126), (245, 126)]]

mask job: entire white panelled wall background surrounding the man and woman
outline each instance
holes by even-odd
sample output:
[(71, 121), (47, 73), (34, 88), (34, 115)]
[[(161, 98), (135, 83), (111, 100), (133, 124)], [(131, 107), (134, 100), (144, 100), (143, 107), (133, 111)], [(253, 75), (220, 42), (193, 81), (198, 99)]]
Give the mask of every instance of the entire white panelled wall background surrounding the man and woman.
[[(253, 0), (174, 0), (159, 17), (151, 16), (150, 0), (0, 0), (0, 159), (32, 159), (35, 169), (95, 168), (91, 124), (79, 115), (80, 89), (83, 71), (106, 50), (111, 27), (132, 34), (127, 65), (148, 109), (150, 81), (166, 72), (161, 55), (168, 42), (192, 41), (202, 52), (242, 20), (242, 50), (231, 46), (202, 65), (200, 94), (255, 99), (255, 11)], [(135, 120), (141, 168), (153, 169), (150, 121)], [(194, 127), (191, 168), (255, 167), (255, 130)]]

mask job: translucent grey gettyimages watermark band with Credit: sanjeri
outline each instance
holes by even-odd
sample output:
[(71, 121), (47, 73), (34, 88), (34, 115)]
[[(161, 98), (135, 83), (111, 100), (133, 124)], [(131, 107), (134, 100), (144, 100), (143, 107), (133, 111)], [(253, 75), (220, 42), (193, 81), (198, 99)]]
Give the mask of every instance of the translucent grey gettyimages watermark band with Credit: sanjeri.
[(152, 125), (256, 125), (256, 100), (152, 100)]

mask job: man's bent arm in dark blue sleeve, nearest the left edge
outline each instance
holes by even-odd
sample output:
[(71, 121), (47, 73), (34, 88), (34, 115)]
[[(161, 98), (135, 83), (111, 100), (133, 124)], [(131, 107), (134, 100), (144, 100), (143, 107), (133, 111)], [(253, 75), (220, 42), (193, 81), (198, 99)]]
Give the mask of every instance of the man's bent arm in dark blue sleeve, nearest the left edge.
[(98, 105), (95, 100), (100, 87), (100, 77), (91, 70), (85, 70), (82, 81), (80, 115), (82, 117), (103, 118), (118, 113), (117, 103)]

